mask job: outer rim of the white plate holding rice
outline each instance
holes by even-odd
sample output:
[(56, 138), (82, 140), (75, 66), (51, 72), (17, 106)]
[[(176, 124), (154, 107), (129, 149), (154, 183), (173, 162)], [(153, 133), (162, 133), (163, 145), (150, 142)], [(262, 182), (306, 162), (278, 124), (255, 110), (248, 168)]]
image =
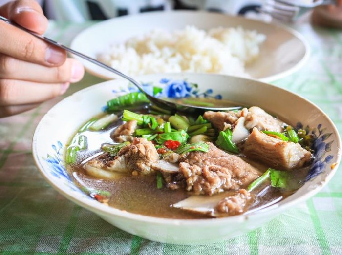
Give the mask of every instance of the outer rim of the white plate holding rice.
[[(295, 30), (294, 28), (292, 28), (290, 26), (284, 25), (284, 24), (282, 24), (280, 22), (277, 22), (275, 20), (271, 20), (270, 22), (266, 22), (264, 20), (251, 19), (251, 18), (247, 18), (247, 17), (243, 17), (243, 16), (236, 16), (236, 15), (232, 15), (232, 14), (223, 14), (223, 13), (209, 12), (209, 11), (206, 11), (206, 10), (154, 11), (154, 12), (145, 12), (145, 13), (135, 13), (135, 14), (132, 14), (132, 15), (129, 15), (129, 16), (120, 16), (120, 17), (111, 18), (111, 19), (108, 19), (108, 20), (101, 21), (99, 23), (95, 23), (95, 24), (85, 28), (80, 33), (78, 33), (76, 35), (76, 37), (74, 39), (72, 39), (72, 41), (70, 42), (70, 48), (77, 50), (75, 48), (75, 44), (80, 39), (80, 37), (83, 37), (84, 34), (89, 32), (89, 30), (96, 29), (97, 27), (101, 27), (101, 26), (103, 26), (106, 23), (111, 23), (111, 22), (115, 22), (115, 21), (119, 21), (119, 20), (134, 19), (135, 17), (146, 17), (146, 16), (153, 17), (153, 16), (158, 16), (158, 15), (170, 15), (170, 14), (171, 15), (177, 15), (177, 14), (179, 14), (179, 15), (181, 15), (181, 14), (182, 15), (189, 15), (189, 14), (191, 14), (191, 15), (196, 15), (196, 16), (209, 15), (209, 16), (221, 16), (221, 17), (225, 17), (227, 19), (249, 20), (249, 21), (252, 21), (254, 23), (259, 23), (259, 24), (263, 24), (263, 25), (266, 25), (266, 26), (271, 26), (271, 27), (274, 27), (274, 28), (285, 30), (286, 32), (292, 34), (294, 37), (296, 37), (297, 39), (299, 39), (303, 43), (303, 46), (304, 46), (304, 49), (305, 49), (304, 56), (294, 66), (292, 66), (289, 69), (287, 69), (285, 71), (282, 71), (282, 72), (280, 72), (278, 74), (274, 74), (274, 75), (267, 76), (267, 77), (264, 77), (264, 78), (253, 78), (253, 77), (250, 77), (250, 79), (256, 79), (256, 80), (259, 80), (259, 81), (262, 81), (262, 82), (271, 82), (271, 81), (278, 80), (280, 78), (287, 77), (290, 74), (295, 73), (296, 71), (301, 69), (305, 65), (305, 63), (309, 60), (310, 55), (311, 55), (311, 47), (310, 47), (310, 44), (309, 44), (308, 40), (299, 31)], [(224, 26), (224, 25), (222, 25), (222, 26)], [(74, 54), (71, 54), (71, 55), (73, 56), (73, 58), (78, 59), (82, 63), (84, 63), (85, 70), (88, 73), (90, 73), (90, 74), (92, 74), (92, 75), (94, 75), (96, 77), (106, 79), (106, 80), (113, 79), (111, 77), (108, 77), (105, 74), (101, 74), (101, 73), (98, 73), (98, 72), (94, 71), (91, 68), (91, 65), (90, 65), (90, 68), (89, 68), (89, 64), (90, 63), (88, 63), (87, 61), (84, 61), (84, 59), (82, 59), (82, 58), (80, 58), (80, 57), (78, 57), (78, 56), (76, 56)], [(211, 74), (211, 73), (208, 73), (208, 74)], [(227, 75), (227, 76), (231, 76), (231, 75)]]

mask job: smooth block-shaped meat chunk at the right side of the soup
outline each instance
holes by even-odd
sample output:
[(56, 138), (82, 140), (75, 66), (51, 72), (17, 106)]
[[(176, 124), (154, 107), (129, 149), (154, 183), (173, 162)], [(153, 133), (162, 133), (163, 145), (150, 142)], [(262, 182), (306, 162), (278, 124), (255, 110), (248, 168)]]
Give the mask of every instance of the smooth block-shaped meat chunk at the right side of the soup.
[(303, 166), (311, 159), (311, 153), (298, 143), (286, 142), (268, 136), (254, 128), (244, 145), (247, 157), (258, 159), (270, 167), (291, 170)]

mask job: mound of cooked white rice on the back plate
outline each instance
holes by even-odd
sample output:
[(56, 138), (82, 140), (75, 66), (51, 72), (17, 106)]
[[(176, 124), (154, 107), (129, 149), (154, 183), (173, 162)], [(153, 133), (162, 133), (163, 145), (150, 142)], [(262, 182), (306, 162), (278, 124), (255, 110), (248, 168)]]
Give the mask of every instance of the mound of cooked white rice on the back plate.
[(196, 72), (248, 77), (245, 64), (257, 58), (265, 39), (241, 27), (153, 30), (112, 45), (98, 59), (129, 75)]

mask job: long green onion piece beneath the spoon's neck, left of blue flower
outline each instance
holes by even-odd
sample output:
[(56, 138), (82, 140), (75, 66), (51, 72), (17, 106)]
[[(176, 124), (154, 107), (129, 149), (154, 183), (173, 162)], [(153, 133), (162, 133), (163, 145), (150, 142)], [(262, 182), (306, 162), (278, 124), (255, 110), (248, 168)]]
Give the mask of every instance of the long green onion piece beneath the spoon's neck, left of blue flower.
[(122, 110), (127, 106), (149, 103), (150, 100), (141, 92), (132, 92), (126, 95), (111, 99), (107, 101), (109, 111)]

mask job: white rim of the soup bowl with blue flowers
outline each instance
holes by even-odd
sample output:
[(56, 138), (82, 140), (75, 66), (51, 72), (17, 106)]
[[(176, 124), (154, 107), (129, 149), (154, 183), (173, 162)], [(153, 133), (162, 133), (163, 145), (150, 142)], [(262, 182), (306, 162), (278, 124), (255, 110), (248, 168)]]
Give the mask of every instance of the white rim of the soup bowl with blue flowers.
[[(272, 88), (281, 91), (282, 93), (289, 93), (292, 96), (295, 96), (297, 98), (299, 98), (300, 100), (304, 100), (307, 103), (311, 104), (312, 107), (317, 108), (321, 114), (322, 117), (324, 117), (327, 122), (329, 122), (329, 124), (331, 125), (332, 131), (334, 133), (334, 135), (336, 135), (336, 147), (337, 147), (337, 158), (334, 160), (334, 162), (336, 162), (336, 165), (334, 166), (334, 168), (331, 169), (329, 174), (325, 173), (325, 178), (324, 180), (322, 180), (320, 183), (318, 183), (318, 185), (315, 185), (315, 187), (310, 188), (310, 190), (305, 193), (302, 196), (299, 196), (298, 198), (295, 198), (293, 200), (290, 201), (286, 201), (284, 203), (282, 203), (281, 205), (279, 205), (279, 202), (277, 202), (274, 205), (268, 206), (264, 209), (260, 209), (260, 210), (256, 210), (256, 212), (250, 213), (250, 214), (242, 214), (242, 215), (236, 215), (236, 216), (228, 216), (228, 217), (221, 217), (221, 218), (202, 218), (202, 219), (172, 219), (172, 218), (162, 218), (162, 217), (154, 217), (154, 216), (145, 216), (145, 215), (140, 215), (140, 214), (135, 214), (135, 213), (130, 213), (128, 211), (124, 211), (124, 210), (120, 210), (114, 207), (109, 207), (107, 205), (104, 205), (96, 200), (89, 200), (89, 199), (85, 199), (84, 197), (80, 196), (71, 196), (70, 194), (68, 194), (66, 191), (64, 191), (64, 189), (62, 189), (58, 184), (56, 184), (55, 182), (53, 182), (48, 175), (45, 174), (44, 169), (43, 169), (43, 165), (41, 163), (41, 158), (38, 157), (37, 154), (37, 139), (39, 138), (39, 131), (42, 128), (43, 125), (43, 119), (47, 118), (47, 116), (49, 115), (49, 113), (57, 106), (64, 104), (65, 101), (72, 99), (74, 96), (78, 96), (80, 94), (85, 93), (88, 90), (93, 90), (97, 87), (105, 87), (108, 86), (108, 84), (113, 83), (113, 82), (122, 82), (122, 81), (126, 81), (124, 78), (118, 78), (118, 79), (112, 79), (112, 80), (107, 80), (101, 83), (97, 83), (91, 86), (88, 86), (82, 90), (79, 90), (75, 93), (73, 93), (72, 95), (62, 99), (60, 102), (58, 102), (57, 104), (55, 104), (49, 111), (47, 111), (47, 113), (45, 113), (45, 115), (43, 116), (43, 118), (40, 120), (40, 122), (38, 123), (34, 135), (32, 137), (32, 155), (35, 161), (35, 165), (37, 166), (39, 172), (41, 173), (41, 175), (43, 176), (43, 178), (55, 189), (57, 190), (60, 194), (62, 194), (64, 197), (66, 197), (67, 199), (71, 200), (72, 202), (78, 204), (81, 207), (84, 207), (85, 209), (88, 209), (89, 211), (92, 211), (94, 213), (101, 213), (101, 215), (106, 215), (106, 216), (120, 216), (123, 217), (125, 219), (129, 219), (129, 220), (137, 220), (137, 221), (142, 221), (145, 223), (153, 223), (153, 224), (163, 224), (163, 225), (169, 225), (169, 226), (174, 226), (174, 225), (182, 225), (182, 226), (198, 226), (198, 224), (201, 224), (202, 226), (213, 226), (214, 225), (220, 225), (222, 223), (229, 223), (231, 221), (245, 221), (247, 220), (249, 217), (253, 217), (253, 216), (260, 216), (260, 215), (267, 215), (268, 213), (277, 213), (278, 211), (283, 211), (293, 205), (299, 204), (299, 202), (301, 201), (305, 201), (307, 199), (309, 199), (310, 197), (314, 196), (315, 194), (317, 194), (330, 180), (331, 178), (335, 175), (337, 169), (339, 168), (340, 165), (340, 161), (341, 161), (341, 137), (340, 134), (335, 126), (335, 124), (333, 123), (333, 121), (329, 118), (329, 116), (327, 114), (325, 114), (320, 107), (318, 107), (316, 104), (314, 104), (313, 102), (309, 101), (306, 98), (303, 98), (302, 96), (300, 96), (297, 93), (291, 92), (289, 90), (286, 90), (284, 88), (272, 85), (272, 84), (268, 84), (265, 82), (261, 82), (259, 80), (255, 80), (255, 79), (249, 79), (249, 78), (240, 78), (240, 77), (234, 77), (234, 76), (227, 76), (227, 75), (218, 75), (218, 74), (198, 74), (198, 73), (168, 73), (168, 74), (150, 74), (150, 75), (142, 75), (142, 76), (137, 76), (135, 78), (146, 78), (146, 77), (153, 77), (153, 76), (161, 76), (161, 75), (171, 75), (171, 76), (180, 76), (180, 75), (190, 75), (190, 76), (220, 76), (220, 77), (230, 77), (230, 78), (235, 78), (235, 79), (242, 79), (245, 81), (252, 81), (253, 83), (259, 83), (258, 86), (264, 86), (264, 87), (268, 87), (271, 86)], [(324, 172), (322, 173), (324, 174)], [(313, 179), (314, 180), (314, 179)], [(312, 181), (312, 180), (310, 180)], [(78, 195), (78, 194), (76, 194)], [(271, 218), (270, 218), (271, 219)]]

